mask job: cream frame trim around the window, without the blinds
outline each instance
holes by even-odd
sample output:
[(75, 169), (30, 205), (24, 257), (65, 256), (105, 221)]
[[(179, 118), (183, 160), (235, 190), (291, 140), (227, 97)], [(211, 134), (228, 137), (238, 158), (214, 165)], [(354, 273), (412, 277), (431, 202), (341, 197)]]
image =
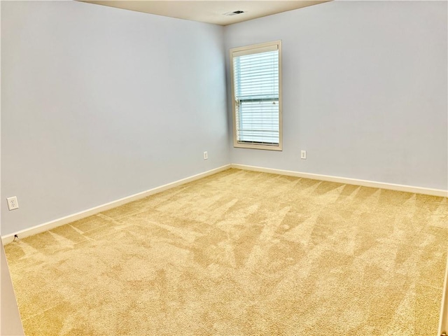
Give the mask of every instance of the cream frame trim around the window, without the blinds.
[[(239, 142), (237, 139), (237, 102), (235, 99), (235, 73), (233, 66), (233, 57), (241, 55), (250, 55), (258, 52), (264, 52), (272, 50), (272, 48), (279, 50), (279, 145), (266, 145), (266, 144), (250, 144)], [(253, 45), (246, 45), (244, 47), (231, 48), (230, 49), (230, 78), (232, 85), (232, 115), (233, 115), (233, 146), (237, 148), (252, 148), (252, 149), (265, 149), (268, 151), (282, 151), (282, 103), (281, 103), (281, 40), (272, 41), (267, 43), (259, 43)]]

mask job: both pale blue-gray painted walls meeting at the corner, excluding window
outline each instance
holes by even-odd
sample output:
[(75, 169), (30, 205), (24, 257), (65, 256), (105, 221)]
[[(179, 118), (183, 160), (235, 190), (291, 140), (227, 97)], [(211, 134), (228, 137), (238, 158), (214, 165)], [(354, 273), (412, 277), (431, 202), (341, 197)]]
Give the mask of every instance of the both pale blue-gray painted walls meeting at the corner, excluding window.
[[(2, 1), (1, 235), (230, 162), (447, 189), (446, 27), (442, 1), (335, 1), (224, 29)], [(232, 148), (228, 48), (277, 39), (284, 150)]]

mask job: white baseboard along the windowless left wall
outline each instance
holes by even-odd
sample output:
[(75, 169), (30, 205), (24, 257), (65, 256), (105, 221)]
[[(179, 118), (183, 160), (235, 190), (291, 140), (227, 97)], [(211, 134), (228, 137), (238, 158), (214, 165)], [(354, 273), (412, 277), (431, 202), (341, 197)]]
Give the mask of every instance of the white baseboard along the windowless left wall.
[(65, 225), (65, 224), (68, 224), (68, 223), (71, 223), (71, 222), (74, 222), (74, 221), (79, 221), (80, 219), (86, 218), (88, 216), (99, 214), (102, 211), (106, 211), (106, 210), (109, 210), (109, 209), (112, 209), (112, 208), (120, 207), (120, 205), (140, 200), (141, 198), (144, 198), (144, 197), (147, 197), (147, 196), (150, 196), (150, 195), (154, 195), (154, 194), (160, 193), (162, 191), (165, 191), (165, 190), (177, 187), (177, 186), (181, 186), (182, 184), (185, 184), (185, 183), (188, 183), (188, 182), (192, 182), (192, 181), (195, 181), (195, 180), (198, 180), (198, 179), (202, 179), (205, 176), (213, 175), (213, 174), (216, 174), (218, 172), (222, 172), (223, 170), (226, 170), (226, 169), (229, 169), (229, 168), (230, 168), (230, 165), (225, 165), (225, 166), (222, 166), (222, 167), (218, 167), (216, 169), (211, 169), (211, 170), (209, 170), (207, 172), (187, 177), (186, 179), (181, 179), (179, 181), (174, 181), (172, 183), (168, 183), (168, 184), (165, 184), (165, 185), (160, 186), (160, 187), (156, 187), (156, 188), (153, 188), (153, 189), (150, 189), (150, 190), (146, 190), (146, 191), (143, 191), (143, 192), (135, 194), (135, 195), (130, 195), (130, 196), (121, 198), (120, 200), (116, 200), (116, 201), (113, 201), (113, 202), (102, 204), (102, 205), (99, 205), (98, 207), (87, 209), (85, 211), (80, 211), (80, 212), (78, 212), (76, 214), (72, 214), (72, 215), (69, 215), (69, 216), (58, 218), (58, 219), (55, 219), (54, 221), (50, 221), (50, 222), (47, 222), (47, 223), (43, 223), (41, 225), (36, 225), (36, 226), (34, 226), (32, 228), (28, 228), (28, 229), (25, 229), (25, 230), (14, 232), (14, 233), (11, 233), (10, 235), (5, 235), (5, 236), (1, 237), (1, 241), (3, 241), (3, 244), (6, 245), (6, 244), (8, 244), (8, 243), (10, 243), (11, 241), (14, 240), (14, 236), (15, 235), (18, 235), (18, 237), (21, 239), (21, 238), (29, 237), (29, 236), (32, 236), (32, 235), (36, 235), (36, 234), (41, 233), (41, 232), (52, 230), (54, 228), (57, 228), (58, 226)]

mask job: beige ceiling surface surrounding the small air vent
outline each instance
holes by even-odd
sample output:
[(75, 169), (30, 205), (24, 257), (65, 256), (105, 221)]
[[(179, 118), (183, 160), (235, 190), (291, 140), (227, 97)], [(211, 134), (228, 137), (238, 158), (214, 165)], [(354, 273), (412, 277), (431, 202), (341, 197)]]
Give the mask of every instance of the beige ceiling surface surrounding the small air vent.
[[(102, 1), (102, 0), (79, 0), (87, 3), (96, 3), (98, 5), (136, 10), (137, 12), (151, 13), (155, 15), (169, 16), (200, 22), (213, 23), (215, 25), (232, 25), (232, 23), (243, 22), (263, 16), (286, 12), (297, 8), (316, 5), (324, 1), (304, 1), (304, 0), (286, 0), (286, 1), (258, 1), (258, 0), (208, 0), (208, 1)], [(242, 10), (244, 13), (237, 15), (224, 15), (236, 10)]]

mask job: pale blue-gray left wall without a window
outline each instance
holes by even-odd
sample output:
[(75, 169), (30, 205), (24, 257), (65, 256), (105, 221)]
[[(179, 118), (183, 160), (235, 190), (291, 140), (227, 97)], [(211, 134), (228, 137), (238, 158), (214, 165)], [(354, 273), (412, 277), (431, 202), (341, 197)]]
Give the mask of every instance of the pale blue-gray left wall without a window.
[(224, 57), (221, 26), (2, 1), (1, 234), (227, 165)]

